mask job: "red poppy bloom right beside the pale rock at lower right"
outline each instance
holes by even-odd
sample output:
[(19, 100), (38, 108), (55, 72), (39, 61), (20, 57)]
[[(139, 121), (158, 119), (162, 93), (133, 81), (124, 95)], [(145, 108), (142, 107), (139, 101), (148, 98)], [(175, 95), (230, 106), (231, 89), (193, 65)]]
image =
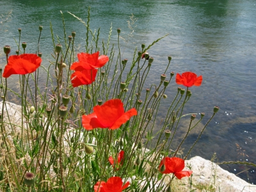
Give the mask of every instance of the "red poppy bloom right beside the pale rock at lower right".
[[(161, 166), (163, 164), (165, 166), (165, 170), (161, 172)], [(184, 167), (185, 161), (179, 157), (164, 157), (159, 164), (159, 170), (161, 173), (173, 173), (178, 179), (181, 179), (182, 177), (189, 177), (192, 174), (192, 171), (182, 171)]]

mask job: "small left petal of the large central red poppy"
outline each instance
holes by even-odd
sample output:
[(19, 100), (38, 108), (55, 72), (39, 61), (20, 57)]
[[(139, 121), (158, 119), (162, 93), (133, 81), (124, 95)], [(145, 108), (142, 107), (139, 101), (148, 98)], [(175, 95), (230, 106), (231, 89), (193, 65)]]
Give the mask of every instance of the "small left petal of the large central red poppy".
[(100, 124), (99, 120), (97, 119), (96, 113), (92, 113), (90, 115), (83, 115), (82, 125), (86, 130), (92, 130), (98, 127), (104, 128), (104, 126)]

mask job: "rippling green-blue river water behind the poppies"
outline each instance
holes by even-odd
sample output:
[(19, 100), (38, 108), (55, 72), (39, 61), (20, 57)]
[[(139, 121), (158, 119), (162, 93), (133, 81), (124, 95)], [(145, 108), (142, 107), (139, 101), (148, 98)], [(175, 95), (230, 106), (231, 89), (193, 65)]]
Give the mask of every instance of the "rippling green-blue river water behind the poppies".
[[(43, 65), (53, 49), (49, 23), (54, 38), (63, 42), (63, 26), (60, 10), (65, 17), (68, 35), (76, 31), (76, 40), (84, 50), (83, 24), (67, 12), (86, 21), (91, 7), (90, 28), (100, 27), (100, 40), (108, 38), (113, 26), (113, 42), (116, 29), (121, 28), (124, 42), (123, 58), (131, 58), (134, 48), (152, 43), (169, 33), (164, 40), (150, 49), (154, 64), (150, 72), (152, 82), (159, 78), (171, 55), (170, 71), (193, 71), (204, 77), (200, 87), (192, 87), (193, 97), (184, 113), (205, 112), (204, 123), (214, 106), (220, 111), (209, 124), (191, 156), (211, 159), (216, 152), (218, 161), (248, 161), (256, 163), (256, 2), (254, 0), (197, 0), (197, 1), (15, 1), (1, 0), (0, 12), (12, 10), (10, 22), (0, 24), (0, 47), (15, 47), (18, 28), (22, 28), (22, 42), (27, 42), (28, 52), (35, 52), (38, 26), (44, 26), (40, 49), (44, 53)], [(129, 16), (138, 19), (132, 37), (127, 27)], [(8, 31), (4, 31), (8, 30)], [(78, 46), (78, 45), (77, 45)], [(1, 50), (2, 51), (2, 50)], [(15, 48), (12, 49), (14, 54)], [(4, 66), (3, 51), (1, 66)], [(170, 71), (168, 73), (170, 73)], [(41, 77), (44, 80), (44, 77)], [(149, 81), (149, 80), (148, 80)], [(14, 86), (14, 85), (13, 85)], [(175, 86), (175, 83), (172, 83)], [(168, 90), (168, 98), (172, 99)], [(168, 100), (166, 100), (168, 102)], [(163, 109), (164, 110), (164, 109)], [(191, 144), (196, 134), (191, 134), (186, 144)], [(177, 139), (179, 140), (179, 138)], [(236, 145), (237, 144), (237, 145)], [(247, 160), (246, 160), (247, 159)], [(232, 173), (245, 170), (245, 166), (223, 166)], [(250, 182), (256, 183), (256, 171), (248, 171)], [(239, 177), (247, 180), (246, 172)]]

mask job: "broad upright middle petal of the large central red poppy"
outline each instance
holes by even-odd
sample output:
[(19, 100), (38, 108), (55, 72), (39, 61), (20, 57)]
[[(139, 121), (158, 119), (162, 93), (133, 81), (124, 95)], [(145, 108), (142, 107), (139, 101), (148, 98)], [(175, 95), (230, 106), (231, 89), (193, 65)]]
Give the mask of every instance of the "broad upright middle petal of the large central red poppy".
[(102, 106), (95, 106), (93, 111), (104, 127), (111, 127), (124, 114), (124, 107), (120, 99), (111, 99)]

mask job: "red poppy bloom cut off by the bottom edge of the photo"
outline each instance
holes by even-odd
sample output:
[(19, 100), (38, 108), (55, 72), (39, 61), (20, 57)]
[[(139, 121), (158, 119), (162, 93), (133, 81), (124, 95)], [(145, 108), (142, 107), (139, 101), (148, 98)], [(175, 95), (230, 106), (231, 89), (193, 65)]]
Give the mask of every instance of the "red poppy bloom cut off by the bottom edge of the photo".
[(122, 179), (120, 177), (110, 177), (107, 182), (98, 181), (94, 186), (95, 192), (122, 192), (128, 188), (130, 182), (126, 182), (123, 186)]

